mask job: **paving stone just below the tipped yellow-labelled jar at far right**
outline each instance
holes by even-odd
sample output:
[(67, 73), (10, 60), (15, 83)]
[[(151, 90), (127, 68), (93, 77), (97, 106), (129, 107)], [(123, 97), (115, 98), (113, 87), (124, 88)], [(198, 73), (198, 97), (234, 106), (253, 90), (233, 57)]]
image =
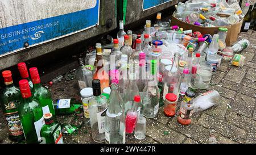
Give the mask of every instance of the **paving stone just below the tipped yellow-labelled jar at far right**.
[(241, 83), (244, 76), (245, 76), (245, 72), (232, 68), (230, 69), (229, 73), (226, 75), (225, 79), (232, 82)]

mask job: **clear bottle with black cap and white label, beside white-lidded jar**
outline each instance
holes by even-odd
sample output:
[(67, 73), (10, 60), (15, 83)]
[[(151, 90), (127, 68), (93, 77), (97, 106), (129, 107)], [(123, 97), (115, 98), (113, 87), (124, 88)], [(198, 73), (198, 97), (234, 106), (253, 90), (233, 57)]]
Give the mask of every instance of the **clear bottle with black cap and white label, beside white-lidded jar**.
[(105, 141), (105, 115), (108, 108), (106, 97), (101, 95), (100, 79), (93, 79), (93, 96), (92, 103), (89, 106), (90, 127), (92, 128), (92, 139), (96, 143)]

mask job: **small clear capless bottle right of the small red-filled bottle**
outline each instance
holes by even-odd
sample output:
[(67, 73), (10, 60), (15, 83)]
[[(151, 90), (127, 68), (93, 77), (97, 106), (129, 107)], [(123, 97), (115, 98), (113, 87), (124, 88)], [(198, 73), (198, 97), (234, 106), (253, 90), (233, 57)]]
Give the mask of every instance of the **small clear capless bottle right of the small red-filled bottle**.
[(135, 124), (134, 137), (138, 140), (143, 140), (146, 137), (146, 118), (144, 115), (139, 115)]

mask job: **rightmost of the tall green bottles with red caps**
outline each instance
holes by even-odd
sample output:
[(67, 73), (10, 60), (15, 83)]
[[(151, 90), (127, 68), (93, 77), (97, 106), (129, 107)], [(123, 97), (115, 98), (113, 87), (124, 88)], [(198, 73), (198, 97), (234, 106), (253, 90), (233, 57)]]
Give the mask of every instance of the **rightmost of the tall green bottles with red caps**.
[(55, 117), (55, 110), (52, 104), (51, 93), (46, 87), (41, 85), (38, 69), (35, 67), (30, 68), (30, 76), (34, 84), (34, 88), (31, 90), (33, 99), (40, 103), (44, 114), (51, 112), (53, 117)]

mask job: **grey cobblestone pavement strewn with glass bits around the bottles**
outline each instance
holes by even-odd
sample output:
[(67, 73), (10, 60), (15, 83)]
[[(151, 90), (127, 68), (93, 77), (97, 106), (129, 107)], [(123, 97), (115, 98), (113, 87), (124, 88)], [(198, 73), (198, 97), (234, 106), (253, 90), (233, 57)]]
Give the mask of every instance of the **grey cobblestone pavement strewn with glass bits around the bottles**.
[[(183, 126), (175, 118), (167, 118), (163, 107), (155, 119), (147, 119), (146, 139), (127, 136), (126, 143), (256, 143), (256, 31), (241, 33), (238, 40), (250, 40), (250, 47), (241, 52), (246, 56), (245, 66), (238, 68), (229, 62), (221, 63), (212, 77), (208, 90), (221, 94), (220, 103), (196, 113), (192, 124)], [(75, 81), (62, 81), (50, 87), (54, 99), (78, 97)], [(196, 96), (207, 90), (197, 90)], [(177, 108), (179, 109), (179, 107)], [(12, 143), (0, 111), (0, 143)], [(60, 123), (82, 123), (81, 116), (58, 116)], [(94, 143), (90, 128), (82, 127), (74, 135), (64, 135), (65, 143)]]

